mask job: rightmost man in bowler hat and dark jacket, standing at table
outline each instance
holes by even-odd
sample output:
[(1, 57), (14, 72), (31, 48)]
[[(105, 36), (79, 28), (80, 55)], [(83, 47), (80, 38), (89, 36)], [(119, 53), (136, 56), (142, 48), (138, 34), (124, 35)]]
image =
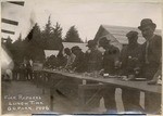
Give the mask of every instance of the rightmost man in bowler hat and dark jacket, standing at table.
[[(143, 18), (138, 27), (146, 42), (142, 44), (143, 76), (151, 80), (161, 65), (162, 37), (154, 34), (156, 25), (150, 18)], [(145, 94), (145, 108), (147, 113), (158, 113), (161, 109), (161, 95), (156, 93)]]

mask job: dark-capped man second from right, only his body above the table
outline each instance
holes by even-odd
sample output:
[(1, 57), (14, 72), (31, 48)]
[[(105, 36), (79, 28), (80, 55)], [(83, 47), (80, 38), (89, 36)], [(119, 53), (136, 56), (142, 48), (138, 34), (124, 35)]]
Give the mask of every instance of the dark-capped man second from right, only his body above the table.
[(138, 33), (129, 31), (126, 34), (128, 46), (124, 47), (120, 60), (122, 62), (122, 75), (135, 75), (135, 68), (140, 68), (141, 48), (137, 42)]

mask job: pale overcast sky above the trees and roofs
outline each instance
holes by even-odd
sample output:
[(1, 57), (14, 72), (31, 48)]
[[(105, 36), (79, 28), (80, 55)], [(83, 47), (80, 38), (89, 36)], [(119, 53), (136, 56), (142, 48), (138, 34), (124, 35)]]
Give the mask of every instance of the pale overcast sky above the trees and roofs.
[[(138, 27), (142, 18), (151, 18), (156, 28), (162, 28), (162, 4), (160, 2), (120, 2), (120, 0), (25, 0), (24, 7), (3, 3), (2, 17), (18, 21), (18, 26), (2, 23), (2, 28), (15, 31), (16, 40), (28, 34), (35, 23), (43, 29), (51, 15), (52, 25), (57, 22), (63, 28), (63, 37), (73, 25), (85, 41), (93, 39), (101, 24)], [(7, 38), (9, 35), (2, 34)]]

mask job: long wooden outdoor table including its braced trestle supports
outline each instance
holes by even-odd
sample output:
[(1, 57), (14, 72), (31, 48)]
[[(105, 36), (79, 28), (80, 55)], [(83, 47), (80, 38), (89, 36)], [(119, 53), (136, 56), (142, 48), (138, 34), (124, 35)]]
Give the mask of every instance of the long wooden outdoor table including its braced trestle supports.
[[(102, 88), (108, 87), (115, 87), (115, 88), (126, 88), (126, 89), (134, 89), (139, 90), (142, 92), (150, 92), (150, 93), (162, 93), (162, 86), (160, 85), (148, 85), (147, 81), (123, 81), (121, 78), (104, 78), (102, 76), (100, 77), (90, 77), (86, 76), (84, 74), (76, 74), (76, 73), (65, 73), (65, 72), (59, 72), (59, 70), (51, 70), (51, 69), (42, 69), (40, 74), (43, 74), (45, 76), (38, 77), (36, 80), (37, 85), (43, 85), (45, 87), (50, 88), (50, 100), (51, 100), (51, 109), (53, 109), (53, 91), (61, 90), (62, 92), (68, 98), (74, 96), (74, 93), (76, 93), (76, 98), (78, 101), (78, 104), (82, 107), (89, 106), (89, 103), (91, 104), (91, 101), (97, 99), (97, 95), (100, 94), (100, 90)], [(89, 85), (90, 81), (93, 81), (93, 85)], [(88, 83), (87, 83), (88, 82)], [(60, 87), (61, 86), (61, 87)], [(72, 91), (72, 89), (75, 88), (75, 91)], [(93, 95), (86, 100), (86, 95), (88, 95), (88, 92), (85, 93), (85, 90), (92, 90), (96, 89), (96, 92)], [(42, 89), (43, 90), (43, 89)], [(75, 99), (73, 98), (75, 101)], [(82, 108), (83, 109), (83, 108)]]

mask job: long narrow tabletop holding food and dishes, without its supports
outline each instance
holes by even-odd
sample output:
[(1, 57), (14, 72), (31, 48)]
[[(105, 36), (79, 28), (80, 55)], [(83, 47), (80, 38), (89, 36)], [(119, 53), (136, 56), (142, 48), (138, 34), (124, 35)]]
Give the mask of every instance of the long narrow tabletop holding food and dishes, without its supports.
[(76, 78), (82, 80), (92, 80), (97, 82), (102, 82), (105, 85), (115, 86), (118, 88), (130, 88), (130, 89), (137, 89), (143, 92), (153, 92), (153, 93), (162, 93), (162, 86), (160, 85), (148, 85), (147, 81), (123, 81), (120, 78), (95, 78), (95, 77), (88, 77), (84, 75), (78, 74), (71, 74), (71, 73), (64, 73), (64, 72), (58, 72), (58, 70), (50, 70), (50, 69), (43, 69), (46, 73), (53, 73), (53, 74), (60, 74), (62, 76), (66, 76), (70, 78)]

